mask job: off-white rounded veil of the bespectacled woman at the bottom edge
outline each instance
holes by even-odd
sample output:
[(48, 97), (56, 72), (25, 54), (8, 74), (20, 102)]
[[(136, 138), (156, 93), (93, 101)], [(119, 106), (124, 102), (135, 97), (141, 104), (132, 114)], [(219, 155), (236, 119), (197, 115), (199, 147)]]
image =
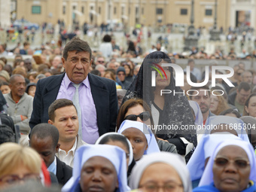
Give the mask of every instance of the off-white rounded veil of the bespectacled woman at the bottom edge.
[(133, 167), (130, 175), (129, 186), (132, 190), (139, 187), (139, 181), (142, 178), (143, 172), (145, 172), (145, 169), (153, 163), (166, 163), (172, 166), (181, 178), (184, 192), (192, 191), (190, 175), (183, 158), (178, 154), (171, 154), (163, 151), (160, 153), (148, 154), (136, 163), (136, 166)]

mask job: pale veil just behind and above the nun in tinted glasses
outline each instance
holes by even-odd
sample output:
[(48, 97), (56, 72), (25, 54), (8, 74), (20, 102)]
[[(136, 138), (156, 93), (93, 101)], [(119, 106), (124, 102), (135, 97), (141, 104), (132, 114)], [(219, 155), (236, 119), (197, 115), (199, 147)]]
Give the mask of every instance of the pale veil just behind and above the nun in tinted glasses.
[[(226, 115), (216, 115), (216, 116), (209, 117), (206, 120), (205, 134), (211, 134), (211, 131), (213, 130), (212, 128), (222, 123), (233, 126), (233, 130), (236, 131), (239, 138), (241, 138), (243, 141), (249, 142), (248, 135), (245, 130), (244, 122), (239, 118), (229, 117)], [(225, 129), (225, 127), (223, 129)]]

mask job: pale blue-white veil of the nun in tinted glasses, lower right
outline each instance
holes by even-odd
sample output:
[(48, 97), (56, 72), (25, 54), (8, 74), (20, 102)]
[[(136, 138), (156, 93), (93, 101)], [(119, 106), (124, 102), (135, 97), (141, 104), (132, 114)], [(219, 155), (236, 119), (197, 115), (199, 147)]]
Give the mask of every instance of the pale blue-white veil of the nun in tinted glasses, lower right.
[(256, 159), (255, 159), (254, 150), (253, 150), (251, 144), (249, 142), (244, 142), (241, 140), (236, 140), (236, 142), (234, 142), (234, 140), (226, 140), (225, 142), (222, 142), (215, 148), (215, 151), (214, 151), (212, 157), (210, 157), (209, 162), (207, 163), (206, 169), (203, 172), (203, 176), (200, 180), (199, 187), (203, 186), (203, 185), (209, 185), (213, 182), (212, 166), (213, 166), (215, 157), (217, 156), (218, 151), (220, 151), (222, 148), (224, 148), (228, 145), (239, 146), (246, 152), (246, 154), (248, 156), (248, 160), (250, 162), (250, 166), (251, 166), (251, 173), (250, 173), (249, 179), (254, 182), (256, 181), (256, 166), (255, 166)]

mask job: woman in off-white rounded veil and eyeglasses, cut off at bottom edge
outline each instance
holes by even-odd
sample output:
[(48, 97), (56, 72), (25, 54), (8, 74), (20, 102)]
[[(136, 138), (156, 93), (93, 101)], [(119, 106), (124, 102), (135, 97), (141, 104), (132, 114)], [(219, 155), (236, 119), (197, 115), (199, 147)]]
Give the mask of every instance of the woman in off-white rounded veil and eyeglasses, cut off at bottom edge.
[(191, 192), (191, 181), (183, 157), (178, 154), (160, 152), (145, 155), (134, 166), (130, 175), (129, 186), (132, 190)]

